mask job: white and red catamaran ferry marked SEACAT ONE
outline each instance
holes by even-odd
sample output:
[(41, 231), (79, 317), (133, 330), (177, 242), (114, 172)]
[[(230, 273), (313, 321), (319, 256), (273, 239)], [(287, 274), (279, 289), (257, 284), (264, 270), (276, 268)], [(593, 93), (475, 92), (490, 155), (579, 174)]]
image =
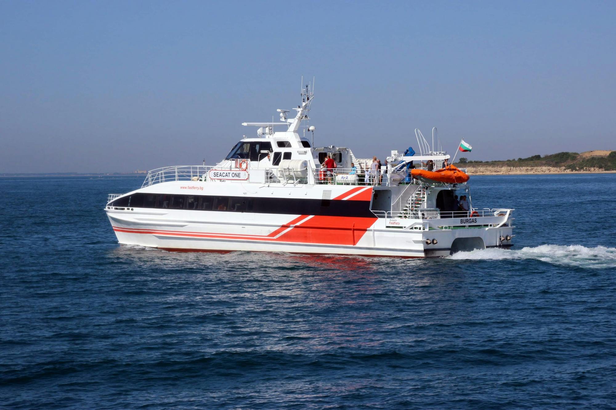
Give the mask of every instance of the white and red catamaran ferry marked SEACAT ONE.
[[(214, 166), (154, 169), (141, 188), (110, 194), (105, 212), (118, 241), (166, 251), (404, 258), (512, 245), (513, 209), (472, 207), (468, 175), (455, 177), (464, 169), (450, 166), (453, 179), (425, 176), (434, 174), (429, 160), (437, 170), (450, 158), (436, 129), (432, 144), (415, 130), (418, 153), (391, 151), (371, 169), (373, 159), (347, 147), (313, 146), (313, 98), (314, 86), (302, 87), (293, 118), (278, 110), (279, 122), (243, 123), (256, 126), (257, 137), (241, 139)], [(335, 168), (322, 165), (328, 156)], [(456, 196), (466, 196), (468, 211)]]

